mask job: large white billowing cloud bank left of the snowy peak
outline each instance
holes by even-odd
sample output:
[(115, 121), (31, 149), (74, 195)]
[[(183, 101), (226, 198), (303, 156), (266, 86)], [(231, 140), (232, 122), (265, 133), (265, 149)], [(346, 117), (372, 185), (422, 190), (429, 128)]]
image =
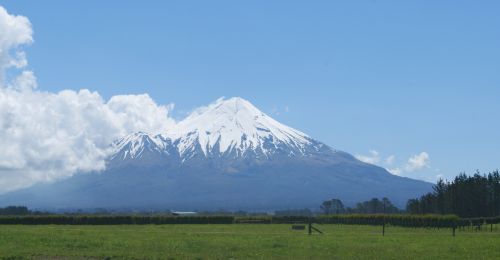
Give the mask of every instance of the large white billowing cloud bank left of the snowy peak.
[[(33, 42), (26, 17), (0, 6), (0, 193), (105, 167), (109, 145), (126, 134), (164, 132), (171, 105), (147, 94), (104, 100), (86, 89), (37, 90), (22, 48)], [(8, 78), (6, 75), (14, 75)]]

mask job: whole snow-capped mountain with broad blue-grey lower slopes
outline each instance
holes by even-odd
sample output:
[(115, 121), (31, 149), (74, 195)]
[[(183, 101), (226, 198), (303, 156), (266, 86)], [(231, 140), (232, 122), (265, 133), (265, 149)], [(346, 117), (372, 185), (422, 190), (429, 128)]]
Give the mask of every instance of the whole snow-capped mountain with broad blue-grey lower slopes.
[(0, 196), (49, 209), (276, 210), (431, 191), (283, 125), (242, 98), (219, 99), (159, 135), (112, 144), (107, 169)]

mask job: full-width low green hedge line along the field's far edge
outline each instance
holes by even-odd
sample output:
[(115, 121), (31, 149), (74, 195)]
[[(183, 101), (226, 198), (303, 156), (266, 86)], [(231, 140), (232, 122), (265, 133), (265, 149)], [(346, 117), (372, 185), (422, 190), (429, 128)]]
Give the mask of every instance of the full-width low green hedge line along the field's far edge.
[(28, 215), (0, 216), (0, 224), (22, 225), (148, 225), (148, 224), (293, 224), (307, 222), (344, 225), (382, 225), (402, 227), (457, 227), (476, 223), (500, 223), (500, 217), (460, 219), (455, 215), (322, 215), (301, 216), (140, 216), (140, 215)]

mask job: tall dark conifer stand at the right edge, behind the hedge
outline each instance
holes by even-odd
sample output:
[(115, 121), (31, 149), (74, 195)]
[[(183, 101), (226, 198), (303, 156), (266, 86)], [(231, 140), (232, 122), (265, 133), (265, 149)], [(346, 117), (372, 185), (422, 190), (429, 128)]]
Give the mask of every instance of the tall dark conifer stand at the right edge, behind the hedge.
[(500, 216), (500, 174), (464, 173), (439, 180), (434, 191), (407, 203), (411, 214), (455, 214), (462, 218)]

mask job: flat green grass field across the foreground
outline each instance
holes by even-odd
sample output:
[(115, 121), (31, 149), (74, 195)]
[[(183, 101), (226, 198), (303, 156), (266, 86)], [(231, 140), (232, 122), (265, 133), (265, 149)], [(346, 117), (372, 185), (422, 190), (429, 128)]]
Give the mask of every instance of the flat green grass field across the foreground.
[(0, 225), (1, 258), (500, 259), (500, 230), (316, 225)]

